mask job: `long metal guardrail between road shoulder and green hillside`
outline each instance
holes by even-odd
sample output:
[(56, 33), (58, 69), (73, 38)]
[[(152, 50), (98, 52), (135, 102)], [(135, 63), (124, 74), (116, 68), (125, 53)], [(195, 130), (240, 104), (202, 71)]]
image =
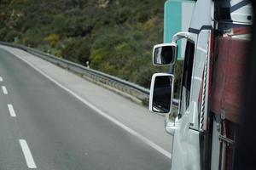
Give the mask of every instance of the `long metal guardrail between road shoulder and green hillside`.
[[(55, 65), (59, 65), (62, 68), (67, 69), (68, 71), (73, 71), (74, 73), (79, 74), (81, 77), (84, 77), (85, 79), (88, 79), (91, 82), (96, 82), (97, 84), (101, 84), (106, 88), (111, 88), (113, 91), (119, 94), (123, 94), (126, 97), (129, 97), (130, 99), (137, 100), (137, 102), (144, 103), (144, 104), (148, 103), (149, 89), (138, 86), (133, 82), (127, 82), (118, 77), (113, 77), (101, 71), (96, 71), (96, 70), (87, 68), (83, 65), (79, 65), (71, 61), (68, 61), (67, 59), (61, 59), (61, 58), (55, 57), (52, 54), (45, 54), (42, 51), (39, 51), (34, 48), (28, 48), (24, 45), (19, 45), (19, 44), (14, 44), (9, 42), (1, 42), (1, 41), (0, 41), (0, 44), (13, 47), (13, 48), (20, 48), (26, 51), (27, 53), (36, 55), (39, 58), (47, 60), (50, 63), (53, 63)], [(173, 100), (173, 105), (174, 106), (178, 105), (177, 99)]]

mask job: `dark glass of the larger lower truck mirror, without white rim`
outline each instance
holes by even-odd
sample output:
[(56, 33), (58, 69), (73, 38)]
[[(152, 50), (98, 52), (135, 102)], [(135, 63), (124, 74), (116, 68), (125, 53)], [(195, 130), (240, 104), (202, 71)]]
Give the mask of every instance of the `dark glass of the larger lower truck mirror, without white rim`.
[(154, 79), (152, 111), (168, 114), (172, 104), (172, 76), (160, 76)]

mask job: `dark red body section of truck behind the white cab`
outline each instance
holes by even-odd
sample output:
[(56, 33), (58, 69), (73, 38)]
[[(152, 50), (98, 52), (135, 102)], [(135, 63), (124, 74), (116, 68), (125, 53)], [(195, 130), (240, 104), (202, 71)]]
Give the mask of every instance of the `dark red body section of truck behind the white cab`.
[(217, 37), (217, 53), (213, 61), (211, 111), (230, 122), (239, 122), (245, 81), (249, 39), (241, 38), (247, 29), (238, 29), (232, 36)]

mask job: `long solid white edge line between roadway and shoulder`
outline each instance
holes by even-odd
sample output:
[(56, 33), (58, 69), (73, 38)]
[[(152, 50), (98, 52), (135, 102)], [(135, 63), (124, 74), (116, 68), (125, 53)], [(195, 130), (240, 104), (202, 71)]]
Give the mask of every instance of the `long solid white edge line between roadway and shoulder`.
[(119, 127), (123, 128), (128, 133), (131, 133), (132, 135), (136, 136), (138, 139), (141, 139), (144, 143), (148, 144), (154, 150), (159, 151), (162, 155), (172, 159), (172, 154), (170, 152), (168, 152), (167, 150), (163, 149), (162, 147), (160, 147), (158, 144), (154, 144), (153, 141), (151, 141), (150, 139), (147, 139), (142, 134), (137, 133), (136, 131), (132, 130), (130, 127), (125, 126), (125, 124), (123, 124), (122, 122), (119, 122), (118, 120), (114, 119), (112, 116), (109, 116), (104, 111), (101, 111), (100, 109), (96, 108), (95, 105), (93, 105), (90, 102), (88, 102), (87, 100), (83, 99), (78, 94), (75, 94), (72, 90), (70, 90), (70, 89), (66, 88), (65, 86), (61, 85), (60, 82), (55, 81), (55, 79), (53, 79), (52, 77), (49, 77), (46, 73), (44, 73), (44, 71), (41, 71), (40, 69), (38, 69), (36, 66), (32, 65), (32, 63), (30, 63), (26, 59), (23, 59), (23, 58), (21, 58), (18, 55), (15, 55), (15, 56), (17, 58), (23, 60), (24, 62), (26, 62), (27, 65), (30, 65), (33, 69), (35, 69), (36, 71), (41, 73), (44, 77), (48, 78), (51, 82), (54, 82), (57, 86), (59, 86), (60, 88), (66, 90), (69, 94), (72, 94), (75, 98), (79, 99), (82, 103), (84, 103), (84, 105), (89, 106), (90, 109), (96, 111), (98, 114), (104, 116), (109, 121), (111, 121), (111, 122), (115, 123), (116, 125), (118, 125)]

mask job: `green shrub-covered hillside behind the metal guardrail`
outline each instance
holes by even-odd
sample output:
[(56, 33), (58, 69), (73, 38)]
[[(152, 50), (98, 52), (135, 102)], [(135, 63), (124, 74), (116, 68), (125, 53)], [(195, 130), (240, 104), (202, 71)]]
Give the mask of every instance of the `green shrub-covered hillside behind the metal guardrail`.
[(17, 42), (148, 88), (165, 0), (0, 0), (0, 40)]

